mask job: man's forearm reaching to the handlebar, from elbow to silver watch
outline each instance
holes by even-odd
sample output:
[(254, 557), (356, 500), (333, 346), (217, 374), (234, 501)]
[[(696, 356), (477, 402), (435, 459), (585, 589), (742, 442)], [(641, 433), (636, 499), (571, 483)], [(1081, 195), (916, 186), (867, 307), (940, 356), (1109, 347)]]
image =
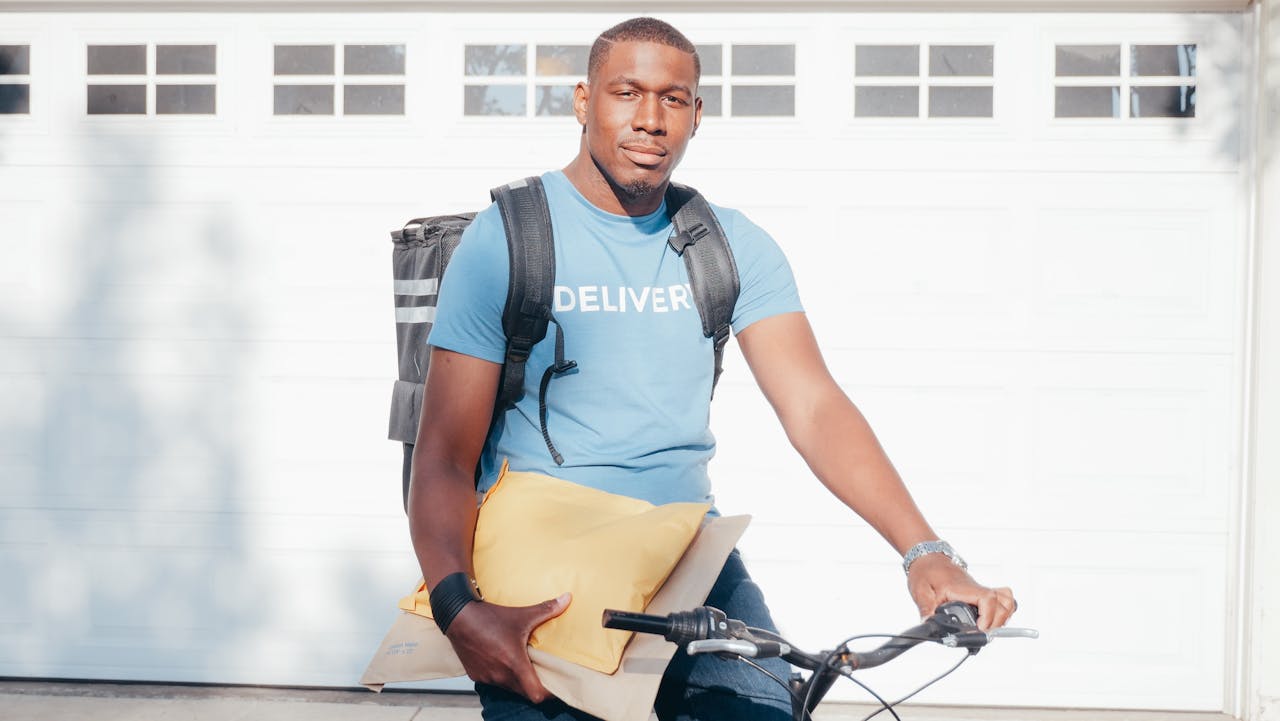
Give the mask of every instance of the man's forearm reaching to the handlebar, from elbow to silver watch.
[(787, 435), (814, 475), (899, 553), (937, 534), (920, 514), (870, 424), (835, 384), (796, 417)]

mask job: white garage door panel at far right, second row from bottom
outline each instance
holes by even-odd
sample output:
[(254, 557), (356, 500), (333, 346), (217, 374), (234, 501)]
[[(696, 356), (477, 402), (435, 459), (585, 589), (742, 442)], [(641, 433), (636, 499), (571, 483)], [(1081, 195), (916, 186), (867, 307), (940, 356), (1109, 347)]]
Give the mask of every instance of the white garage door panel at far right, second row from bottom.
[(1037, 374), (1024, 417), (1038, 502), (1110, 528), (1229, 528), (1230, 359), (1060, 359)]

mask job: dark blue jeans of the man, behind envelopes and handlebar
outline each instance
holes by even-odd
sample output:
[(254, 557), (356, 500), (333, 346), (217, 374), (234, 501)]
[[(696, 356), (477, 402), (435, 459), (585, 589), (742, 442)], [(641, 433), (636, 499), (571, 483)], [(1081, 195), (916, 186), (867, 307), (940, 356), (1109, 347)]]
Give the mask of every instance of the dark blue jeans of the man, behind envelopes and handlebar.
[[(730, 553), (716, 579), (707, 606), (724, 611), (749, 626), (777, 631), (760, 588), (742, 565), (737, 549)], [(780, 658), (759, 661), (783, 681), (791, 666)], [(498, 686), (476, 684), (485, 721), (594, 721), (559, 699), (532, 704)], [(654, 701), (662, 721), (791, 721), (791, 695), (777, 681), (742, 661), (716, 656), (689, 656), (677, 651), (667, 666)]]

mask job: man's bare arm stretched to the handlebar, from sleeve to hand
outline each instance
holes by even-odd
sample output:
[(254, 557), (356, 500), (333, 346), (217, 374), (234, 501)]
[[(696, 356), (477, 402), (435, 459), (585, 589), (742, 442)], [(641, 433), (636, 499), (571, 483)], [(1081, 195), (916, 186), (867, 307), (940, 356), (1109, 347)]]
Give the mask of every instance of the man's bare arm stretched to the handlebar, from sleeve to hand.
[[(937, 534), (924, 520), (867, 419), (831, 377), (801, 312), (767, 318), (737, 336), (756, 383), (814, 475), (901, 555)], [(943, 556), (923, 556), (908, 579), (920, 613), (945, 601), (978, 606), (982, 628), (1016, 604), (1009, 589), (980, 587)]]

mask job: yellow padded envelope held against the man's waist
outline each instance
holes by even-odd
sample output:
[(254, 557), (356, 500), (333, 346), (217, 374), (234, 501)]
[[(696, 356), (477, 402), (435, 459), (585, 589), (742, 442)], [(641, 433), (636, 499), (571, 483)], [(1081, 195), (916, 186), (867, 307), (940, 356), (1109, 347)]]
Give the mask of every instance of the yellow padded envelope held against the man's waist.
[[(631, 634), (600, 626), (605, 608), (644, 611), (685, 553), (708, 503), (653, 503), (541, 474), (503, 469), (476, 520), (476, 584), (484, 599), (529, 606), (566, 590), (563, 615), (530, 645), (613, 674)], [(401, 608), (430, 617), (428, 592)]]

